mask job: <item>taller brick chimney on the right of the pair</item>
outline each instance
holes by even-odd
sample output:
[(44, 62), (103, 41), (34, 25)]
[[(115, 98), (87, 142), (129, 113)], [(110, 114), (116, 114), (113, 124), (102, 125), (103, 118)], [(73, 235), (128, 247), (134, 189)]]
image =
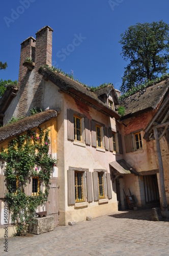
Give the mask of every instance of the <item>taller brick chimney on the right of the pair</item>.
[(53, 30), (46, 26), (36, 33), (36, 51), (35, 51), (35, 69), (40, 66), (48, 65), (51, 67), (52, 56), (52, 32)]

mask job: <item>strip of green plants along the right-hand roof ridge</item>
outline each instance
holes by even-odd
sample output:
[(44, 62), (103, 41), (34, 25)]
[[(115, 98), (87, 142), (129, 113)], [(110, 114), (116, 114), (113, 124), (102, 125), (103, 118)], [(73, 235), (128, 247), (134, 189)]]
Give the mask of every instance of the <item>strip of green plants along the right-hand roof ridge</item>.
[(162, 75), (161, 77), (158, 77), (158, 78), (156, 78), (156, 79), (154, 79), (154, 80), (148, 80), (148, 81), (146, 81), (146, 82), (143, 82), (143, 83), (141, 83), (141, 84), (139, 84), (139, 86), (132, 86), (127, 92), (125, 92), (123, 95), (121, 95), (120, 97), (119, 97), (119, 100), (122, 100), (122, 99), (124, 99), (124, 98), (127, 98), (127, 97), (129, 97), (130, 95), (132, 95), (132, 94), (134, 94), (134, 93), (136, 93), (136, 92), (138, 92), (138, 91), (140, 91), (140, 90), (144, 90), (145, 88), (147, 88), (147, 87), (149, 87), (149, 86), (153, 86), (153, 84), (156, 84), (156, 83), (158, 83), (158, 82), (161, 82), (161, 81), (163, 81), (163, 80), (165, 80), (166, 78), (168, 78), (169, 77), (169, 74), (168, 73), (166, 73), (166, 74), (164, 74), (164, 75)]

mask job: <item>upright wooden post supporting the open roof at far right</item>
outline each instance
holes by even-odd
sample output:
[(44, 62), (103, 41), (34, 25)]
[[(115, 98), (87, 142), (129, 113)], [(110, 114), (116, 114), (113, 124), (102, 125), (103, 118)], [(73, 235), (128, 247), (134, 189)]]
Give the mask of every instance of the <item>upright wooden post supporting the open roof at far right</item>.
[(164, 172), (163, 172), (163, 164), (162, 164), (162, 157), (161, 157), (161, 150), (160, 150), (160, 142), (158, 140), (158, 131), (156, 126), (153, 127), (153, 130), (154, 130), (154, 136), (156, 141), (158, 167), (159, 167), (159, 181), (160, 181), (160, 192), (161, 192), (160, 204), (162, 207), (162, 211), (168, 211), (166, 194), (165, 194)]

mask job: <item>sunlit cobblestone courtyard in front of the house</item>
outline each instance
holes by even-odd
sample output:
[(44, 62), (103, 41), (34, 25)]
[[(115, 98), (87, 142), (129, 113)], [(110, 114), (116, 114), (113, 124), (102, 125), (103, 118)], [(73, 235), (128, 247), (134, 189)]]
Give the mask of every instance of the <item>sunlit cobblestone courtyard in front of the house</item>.
[(0, 240), (0, 255), (169, 255), (169, 222), (151, 221), (151, 209), (121, 211), (32, 237)]

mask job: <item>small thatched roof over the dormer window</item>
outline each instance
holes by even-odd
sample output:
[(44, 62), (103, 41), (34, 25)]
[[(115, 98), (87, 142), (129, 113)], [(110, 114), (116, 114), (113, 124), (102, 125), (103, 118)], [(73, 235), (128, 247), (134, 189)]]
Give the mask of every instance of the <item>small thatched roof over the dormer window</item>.
[(107, 87), (99, 89), (99, 90), (95, 91), (94, 93), (97, 95), (97, 97), (99, 99), (102, 100), (102, 98), (104, 98), (104, 95), (106, 96), (106, 98), (108, 98), (110, 92), (112, 92), (115, 105), (119, 104), (119, 99), (118, 99), (117, 93), (116, 93), (115, 88), (112, 84), (109, 84)]

